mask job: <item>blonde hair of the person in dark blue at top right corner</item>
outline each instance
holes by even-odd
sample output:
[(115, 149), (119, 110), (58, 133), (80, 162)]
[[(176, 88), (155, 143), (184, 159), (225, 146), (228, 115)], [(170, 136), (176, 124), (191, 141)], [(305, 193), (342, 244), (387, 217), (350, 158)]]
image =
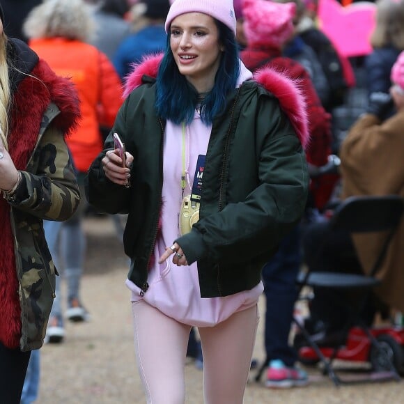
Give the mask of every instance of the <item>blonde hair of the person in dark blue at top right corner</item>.
[(375, 18), (370, 38), (372, 47), (393, 45), (404, 50), (404, 0), (378, 0)]

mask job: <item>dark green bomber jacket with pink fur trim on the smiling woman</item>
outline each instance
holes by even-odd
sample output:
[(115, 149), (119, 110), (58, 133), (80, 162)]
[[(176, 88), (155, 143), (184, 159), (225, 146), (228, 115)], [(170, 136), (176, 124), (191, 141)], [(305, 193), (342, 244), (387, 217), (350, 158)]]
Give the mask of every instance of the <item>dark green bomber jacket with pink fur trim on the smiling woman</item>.
[[(126, 93), (135, 89), (112, 130), (134, 155), (132, 187), (116, 185), (104, 176), (101, 160), (113, 148), (110, 135), (88, 171), (86, 189), (88, 201), (99, 210), (129, 214), (124, 235), (125, 253), (132, 260), (128, 277), (143, 293), (148, 289), (148, 265), (162, 209), (165, 122), (155, 113), (155, 79), (145, 75), (155, 71), (153, 63), (158, 62), (158, 57), (150, 58), (132, 73)], [(226, 110), (215, 118), (200, 219), (190, 233), (176, 240), (187, 262), (198, 263), (201, 297), (256, 286), (261, 267), (297, 224), (306, 203), (304, 100), (293, 82), (279, 73), (266, 70), (257, 79), (262, 84), (244, 81), (228, 94)]]

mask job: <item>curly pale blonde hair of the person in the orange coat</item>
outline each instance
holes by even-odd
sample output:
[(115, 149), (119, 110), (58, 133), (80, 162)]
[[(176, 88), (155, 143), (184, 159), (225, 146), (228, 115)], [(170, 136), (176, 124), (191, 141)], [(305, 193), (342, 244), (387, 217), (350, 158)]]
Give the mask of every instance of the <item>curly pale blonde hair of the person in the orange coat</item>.
[(62, 37), (90, 42), (95, 33), (92, 10), (83, 0), (45, 0), (24, 22), (28, 38)]

